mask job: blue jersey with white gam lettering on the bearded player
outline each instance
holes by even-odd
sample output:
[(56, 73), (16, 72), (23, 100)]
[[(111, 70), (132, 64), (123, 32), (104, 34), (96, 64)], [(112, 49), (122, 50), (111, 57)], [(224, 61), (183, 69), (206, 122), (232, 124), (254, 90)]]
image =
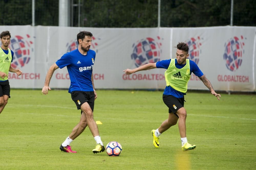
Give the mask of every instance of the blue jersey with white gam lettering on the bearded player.
[(93, 91), (92, 68), (95, 60), (95, 51), (89, 50), (86, 55), (82, 55), (78, 49), (64, 54), (56, 64), (59, 68), (67, 66), (70, 87), (68, 93), (72, 91)]

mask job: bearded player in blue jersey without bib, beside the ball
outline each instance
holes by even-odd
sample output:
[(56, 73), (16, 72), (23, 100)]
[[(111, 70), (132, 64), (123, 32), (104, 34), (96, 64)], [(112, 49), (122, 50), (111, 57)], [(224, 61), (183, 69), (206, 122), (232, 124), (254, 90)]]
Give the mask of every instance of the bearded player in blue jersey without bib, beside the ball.
[(71, 134), (60, 145), (60, 150), (69, 153), (72, 151), (70, 143), (76, 139), (88, 125), (97, 143), (93, 153), (104, 152), (105, 148), (99, 136), (98, 126), (93, 119), (94, 100), (97, 98), (93, 84), (92, 68), (95, 60), (95, 51), (90, 50), (92, 33), (81, 31), (77, 34), (78, 49), (64, 54), (54, 63), (47, 72), (45, 84), (42, 88), (43, 94), (48, 94), (50, 79), (54, 71), (58, 68), (67, 67), (70, 77), (70, 87), (72, 100), (76, 103), (77, 109), (81, 109), (80, 122), (73, 128)]

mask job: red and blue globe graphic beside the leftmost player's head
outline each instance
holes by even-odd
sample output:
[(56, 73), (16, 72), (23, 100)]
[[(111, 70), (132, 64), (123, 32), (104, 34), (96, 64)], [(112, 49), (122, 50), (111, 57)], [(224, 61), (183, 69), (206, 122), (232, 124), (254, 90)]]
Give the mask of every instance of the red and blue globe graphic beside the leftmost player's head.
[(13, 68), (21, 68), (30, 61), (33, 42), (29, 39), (30, 36), (28, 34), (25, 38), (20, 35), (11, 37), (9, 48), (14, 52), (13, 62), (11, 63)]

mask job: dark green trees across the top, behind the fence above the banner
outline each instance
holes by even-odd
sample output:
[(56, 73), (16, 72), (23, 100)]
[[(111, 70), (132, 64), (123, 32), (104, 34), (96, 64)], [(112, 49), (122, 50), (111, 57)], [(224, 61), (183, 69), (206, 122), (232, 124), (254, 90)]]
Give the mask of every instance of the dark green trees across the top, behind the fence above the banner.
[[(80, 27), (157, 27), (157, 0), (81, 0)], [(78, 0), (73, 0), (78, 4)], [(32, 0), (0, 0), (0, 25), (32, 23)], [(72, 6), (71, 6), (72, 7)], [(161, 0), (161, 27), (230, 24), (231, 0)], [(234, 0), (233, 25), (256, 26), (256, 0)], [(35, 1), (35, 25), (58, 26), (59, 1)], [(78, 7), (73, 7), (78, 26)]]

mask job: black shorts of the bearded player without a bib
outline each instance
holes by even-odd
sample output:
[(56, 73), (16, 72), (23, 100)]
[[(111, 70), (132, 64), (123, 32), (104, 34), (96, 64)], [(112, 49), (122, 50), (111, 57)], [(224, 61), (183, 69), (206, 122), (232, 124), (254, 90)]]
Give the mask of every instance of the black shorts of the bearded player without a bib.
[(83, 103), (88, 102), (92, 111), (94, 109), (94, 91), (72, 91), (71, 98), (77, 105), (77, 110), (80, 109)]

